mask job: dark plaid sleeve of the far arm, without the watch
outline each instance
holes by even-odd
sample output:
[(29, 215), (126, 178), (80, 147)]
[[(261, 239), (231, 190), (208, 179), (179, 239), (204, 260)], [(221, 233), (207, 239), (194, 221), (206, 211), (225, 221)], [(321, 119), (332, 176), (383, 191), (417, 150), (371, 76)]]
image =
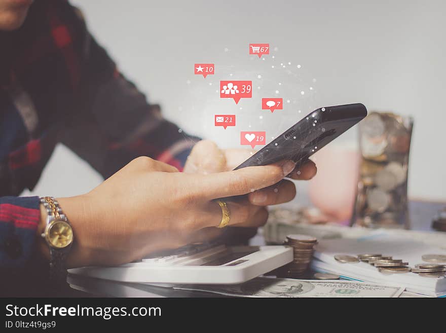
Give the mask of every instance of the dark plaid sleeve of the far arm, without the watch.
[(198, 141), (165, 120), (158, 105), (117, 70), (80, 19), (84, 31), (79, 107), (68, 117), (63, 143), (105, 178), (138, 156), (182, 170)]

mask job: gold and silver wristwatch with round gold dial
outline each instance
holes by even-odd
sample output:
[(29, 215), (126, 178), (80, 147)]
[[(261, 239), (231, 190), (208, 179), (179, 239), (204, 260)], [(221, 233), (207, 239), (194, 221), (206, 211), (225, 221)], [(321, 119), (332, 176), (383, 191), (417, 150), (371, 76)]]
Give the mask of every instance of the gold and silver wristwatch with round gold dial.
[(50, 279), (65, 282), (65, 259), (73, 243), (73, 230), (56, 199), (43, 197), (40, 202), (48, 213), (42, 237), (50, 248)]

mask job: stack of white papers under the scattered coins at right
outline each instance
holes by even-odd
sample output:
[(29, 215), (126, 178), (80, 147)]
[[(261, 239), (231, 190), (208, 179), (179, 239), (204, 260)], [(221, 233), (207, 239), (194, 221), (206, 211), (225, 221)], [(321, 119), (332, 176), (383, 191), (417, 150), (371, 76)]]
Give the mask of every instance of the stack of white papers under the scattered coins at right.
[(446, 296), (445, 277), (423, 277), (412, 272), (387, 275), (364, 262), (343, 264), (334, 259), (336, 254), (357, 256), (362, 253), (392, 256), (414, 267), (416, 264), (426, 263), (422, 260), (422, 255), (446, 255), (446, 249), (381, 232), (357, 239), (322, 239), (315, 246), (312, 268), (318, 272), (335, 273), (345, 279), (400, 285), (411, 292), (433, 297)]

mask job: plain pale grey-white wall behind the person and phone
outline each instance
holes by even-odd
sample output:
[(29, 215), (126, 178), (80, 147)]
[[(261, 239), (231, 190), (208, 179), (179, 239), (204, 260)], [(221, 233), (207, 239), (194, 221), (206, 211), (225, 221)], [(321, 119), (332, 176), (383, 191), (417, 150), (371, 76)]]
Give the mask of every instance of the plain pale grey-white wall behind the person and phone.
[[(243, 128), (216, 130), (214, 113), (237, 113), (239, 125), (272, 136), (323, 105), (362, 102), (369, 110), (412, 115), (410, 196), (446, 200), (446, 2), (71, 3), (83, 10), (91, 32), (127, 77), (186, 131), (237, 146)], [(249, 43), (270, 43), (272, 52), (265, 60), (248, 56)], [(195, 62), (215, 62), (216, 75), (194, 77)], [(231, 73), (254, 81), (252, 100), (219, 100), (218, 80)], [(290, 103), (281, 114), (261, 113), (261, 94)], [(354, 132), (344, 135), (345, 141), (354, 138)], [(34, 193), (75, 195), (99, 182), (86, 163), (58, 146)]]

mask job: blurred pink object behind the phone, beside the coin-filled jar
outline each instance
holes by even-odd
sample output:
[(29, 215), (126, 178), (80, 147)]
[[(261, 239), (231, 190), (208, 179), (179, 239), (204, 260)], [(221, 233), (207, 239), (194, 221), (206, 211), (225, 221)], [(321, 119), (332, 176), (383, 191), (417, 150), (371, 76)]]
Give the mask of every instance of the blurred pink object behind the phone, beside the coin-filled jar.
[(353, 213), (359, 174), (358, 150), (328, 146), (317, 152), (313, 161), (317, 174), (309, 183), (311, 202), (335, 221), (348, 221)]

